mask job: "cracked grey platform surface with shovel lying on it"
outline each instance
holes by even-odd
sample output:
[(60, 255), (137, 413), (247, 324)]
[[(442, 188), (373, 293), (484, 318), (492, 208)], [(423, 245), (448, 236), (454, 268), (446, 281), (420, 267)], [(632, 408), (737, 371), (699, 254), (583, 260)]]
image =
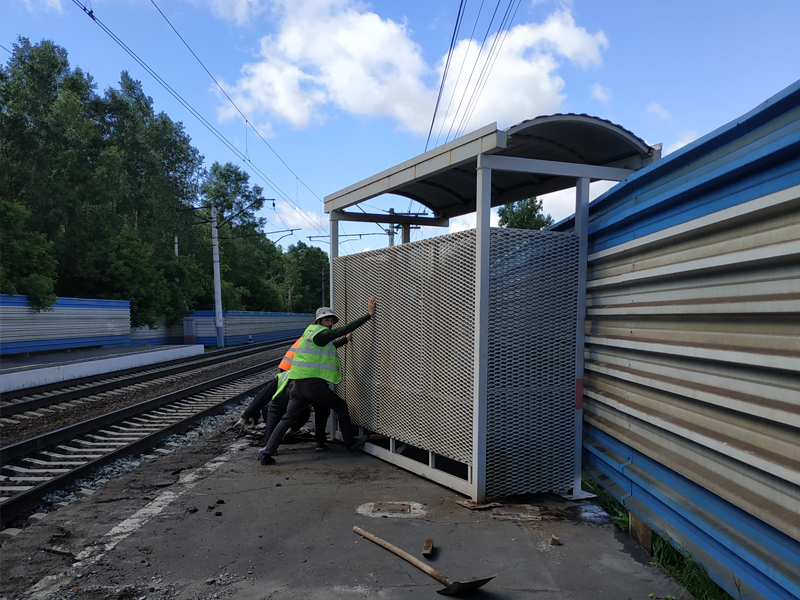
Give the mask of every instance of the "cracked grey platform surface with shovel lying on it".
[[(452, 491), (338, 444), (328, 453), (284, 445), (268, 467), (256, 451), (218, 432), (48, 515), (0, 549), (0, 596), (441, 597), (441, 584), (356, 535), (358, 525), (451, 579), (497, 573), (474, 598), (690, 598), (591, 501), (541, 496), (471, 511)], [(390, 502), (422, 508), (404, 518), (359, 512)]]

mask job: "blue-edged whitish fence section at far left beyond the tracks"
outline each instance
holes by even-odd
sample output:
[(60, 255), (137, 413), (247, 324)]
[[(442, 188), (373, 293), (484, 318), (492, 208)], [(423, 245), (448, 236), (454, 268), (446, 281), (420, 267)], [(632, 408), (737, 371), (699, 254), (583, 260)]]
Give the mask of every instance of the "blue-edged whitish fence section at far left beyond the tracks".
[(58, 298), (51, 310), (36, 312), (27, 296), (0, 294), (0, 354), (130, 343), (127, 300)]

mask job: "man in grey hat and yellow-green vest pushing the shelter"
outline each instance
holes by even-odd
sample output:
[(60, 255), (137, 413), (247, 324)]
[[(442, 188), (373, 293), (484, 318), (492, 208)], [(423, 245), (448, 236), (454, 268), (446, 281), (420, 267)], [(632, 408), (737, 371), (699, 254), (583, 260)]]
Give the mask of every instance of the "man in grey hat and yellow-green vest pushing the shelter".
[[(336, 355), (334, 341), (346, 337), (347, 334), (369, 321), (375, 314), (375, 305), (376, 299), (373, 296), (367, 302), (366, 315), (336, 329), (333, 329), (333, 326), (339, 322), (339, 317), (333, 310), (327, 307), (317, 310), (314, 324), (306, 328), (295, 349), (292, 369), (285, 374), (286, 379), (282, 382), (283, 385), (278, 384), (276, 396), (283, 391), (283, 386), (287, 385), (289, 381), (294, 385), (289, 391), (289, 405), (286, 413), (269, 437), (267, 445), (261, 450), (262, 465), (270, 465), (275, 462), (275, 453), (278, 451), (278, 446), (283, 441), (286, 431), (312, 402), (316, 406), (330, 408), (336, 413), (342, 438), (351, 452), (355, 452), (364, 445), (366, 438), (355, 439), (353, 437), (347, 403), (339, 398), (328, 387), (328, 384), (335, 385), (342, 380), (342, 366)], [(320, 446), (319, 438), (317, 438), (317, 449), (324, 449), (324, 442)]]

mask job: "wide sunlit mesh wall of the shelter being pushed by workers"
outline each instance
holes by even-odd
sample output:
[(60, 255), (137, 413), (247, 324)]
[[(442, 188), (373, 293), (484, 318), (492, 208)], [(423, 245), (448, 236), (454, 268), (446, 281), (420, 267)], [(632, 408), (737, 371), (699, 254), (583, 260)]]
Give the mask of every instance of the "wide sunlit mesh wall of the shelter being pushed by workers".
[(472, 464), (475, 232), (334, 260), (336, 311), (376, 318), (340, 352), (354, 423)]

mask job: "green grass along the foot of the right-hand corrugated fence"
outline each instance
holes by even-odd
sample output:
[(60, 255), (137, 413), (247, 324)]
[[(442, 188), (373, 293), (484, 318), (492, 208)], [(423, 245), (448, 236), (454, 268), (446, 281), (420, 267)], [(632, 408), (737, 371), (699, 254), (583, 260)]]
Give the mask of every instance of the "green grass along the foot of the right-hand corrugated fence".
[[(597, 504), (609, 514), (612, 522), (628, 533), (628, 509), (586, 472), (581, 473), (581, 484), (583, 489), (597, 496)], [(654, 532), (652, 556), (653, 564), (669, 573), (696, 600), (734, 600), (711, 579), (703, 566), (685, 548), (673, 546), (663, 531)], [(654, 593), (650, 594), (650, 598), (677, 600), (673, 596), (657, 596)]]

